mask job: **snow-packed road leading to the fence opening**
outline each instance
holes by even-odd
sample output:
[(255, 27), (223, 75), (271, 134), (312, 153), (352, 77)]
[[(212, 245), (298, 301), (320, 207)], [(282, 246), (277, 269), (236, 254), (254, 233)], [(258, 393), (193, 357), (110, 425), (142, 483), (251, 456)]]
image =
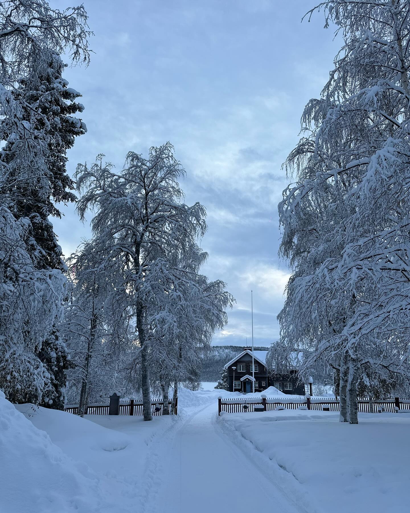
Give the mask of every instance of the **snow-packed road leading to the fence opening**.
[[(215, 404), (193, 413), (148, 462), (146, 513), (219, 513), (280, 509), (301, 513), (216, 424)], [(160, 454), (165, 462), (157, 465)], [(151, 466), (151, 468), (150, 468)], [(151, 477), (154, 478), (151, 479)], [(148, 482), (151, 481), (151, 486)]]

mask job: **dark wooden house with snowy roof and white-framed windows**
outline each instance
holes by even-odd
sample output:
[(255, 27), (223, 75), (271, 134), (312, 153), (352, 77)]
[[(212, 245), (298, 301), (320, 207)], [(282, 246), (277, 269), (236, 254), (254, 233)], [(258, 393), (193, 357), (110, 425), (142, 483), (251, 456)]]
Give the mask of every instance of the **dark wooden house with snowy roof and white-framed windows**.
[[(268, 351), (254, 351), (255, 371), (252, 372), (252, 348), (245, 347), (243, 351), (224, 365), (227, 369), (228, 390), (230, 392), (250, 393), (253, 391), (252, 382), (255, 380), (255, 392), (261, 392), (274, 386), (283, 393), (304, 396), (305, 387), (298, 383), (297, 369), (289, 374), (268, 372), (266, 356)], [(253, 377), (254, 376), (254, 377)]]

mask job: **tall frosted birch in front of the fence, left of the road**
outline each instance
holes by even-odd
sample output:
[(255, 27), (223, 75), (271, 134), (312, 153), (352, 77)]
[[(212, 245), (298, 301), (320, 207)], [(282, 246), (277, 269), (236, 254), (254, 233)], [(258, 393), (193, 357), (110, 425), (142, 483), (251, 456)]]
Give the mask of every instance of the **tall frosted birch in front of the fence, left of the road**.
[(88, 209), (96, 212), (91, 222), (92, 243), (111, 263), (111, 269), (113, 262), (116, 265), (107, 302), (113, 305), (113, 312), (125, 315), (135, 325), (144, 419), (151, 420), (150, 306), (156, 304), (158, 314), (166, 317), (169, 296), (180, 297), (179, 277), (167, 257), (171, 251), (185, 254), (197, 236), (203, 235), (205, 209), (199, 203), (191, 207), (180, 203), (178, 179), (184, 171), (170, 143), (151, 148), (148, 159), (130, 152), (120, 173), (115, 173), (111, 164), (103, 166), (102, 159), (99, 155), (90, 168), (78, 165), (77, 187), (83, 196), (77, 209), (81, 219)]

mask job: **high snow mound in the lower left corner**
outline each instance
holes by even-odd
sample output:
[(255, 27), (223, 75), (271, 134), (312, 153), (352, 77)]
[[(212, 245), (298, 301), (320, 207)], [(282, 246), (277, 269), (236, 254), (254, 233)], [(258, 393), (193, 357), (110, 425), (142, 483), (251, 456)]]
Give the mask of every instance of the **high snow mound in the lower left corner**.
[(6, 400), (0, 391), (1, 510), (90, 513), (106, 510), (87, 464), (76, 463)]

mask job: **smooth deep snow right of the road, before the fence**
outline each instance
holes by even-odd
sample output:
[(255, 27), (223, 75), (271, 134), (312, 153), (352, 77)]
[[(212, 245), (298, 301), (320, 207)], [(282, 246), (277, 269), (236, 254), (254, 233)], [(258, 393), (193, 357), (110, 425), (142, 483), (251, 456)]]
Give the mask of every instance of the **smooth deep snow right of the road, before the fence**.
[(281, 475), (309, 510), (406, 511), (410, 414), (360, 413), (353, 426), (338, 416), (282, 410), (222, 413), (218, 422), (243, 450), (253, 447), (253, 459)]

